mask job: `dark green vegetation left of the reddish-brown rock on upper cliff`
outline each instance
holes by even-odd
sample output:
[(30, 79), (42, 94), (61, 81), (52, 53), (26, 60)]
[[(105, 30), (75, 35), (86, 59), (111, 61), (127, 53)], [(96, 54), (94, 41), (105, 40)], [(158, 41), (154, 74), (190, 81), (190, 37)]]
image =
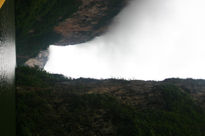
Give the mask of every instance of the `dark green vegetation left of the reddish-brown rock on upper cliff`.
[[(33, 57), (59, 35), (54, 26), (70, 17), (79, 7), (79, 0), (15, 0), (17, 55)], [(22, 57), (23, 56), (23, 57)]]

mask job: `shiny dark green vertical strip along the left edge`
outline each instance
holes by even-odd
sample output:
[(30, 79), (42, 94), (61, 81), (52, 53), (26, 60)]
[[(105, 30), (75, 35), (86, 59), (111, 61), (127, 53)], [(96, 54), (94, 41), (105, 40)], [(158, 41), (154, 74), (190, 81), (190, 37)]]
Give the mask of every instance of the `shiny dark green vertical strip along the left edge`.
[(0, 0), (0, 136), (16, 135), (14, 0)]

